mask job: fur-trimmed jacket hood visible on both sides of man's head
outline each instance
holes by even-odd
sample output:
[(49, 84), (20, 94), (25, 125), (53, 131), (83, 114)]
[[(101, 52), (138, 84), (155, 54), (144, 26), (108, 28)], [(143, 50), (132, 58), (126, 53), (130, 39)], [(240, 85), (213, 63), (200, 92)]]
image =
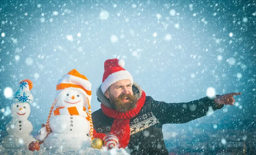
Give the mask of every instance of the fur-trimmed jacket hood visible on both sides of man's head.
[[(134, 82), (132, 85), (132, 91), (134, 93), (134, 96), (136, 97), (136, 101), (138, 101), (138, 99), (140, 99), (141, 97), (142, 89), (139, 85), (137, 85), (136, 82)], [(106, 107), (113, 108), (112, 104), (109, 102), (109, 99), (102, 92), (101, 86), (99, 86), (99, 88), (97, 89), (96, 95), (99, 102), (104, 104)]]

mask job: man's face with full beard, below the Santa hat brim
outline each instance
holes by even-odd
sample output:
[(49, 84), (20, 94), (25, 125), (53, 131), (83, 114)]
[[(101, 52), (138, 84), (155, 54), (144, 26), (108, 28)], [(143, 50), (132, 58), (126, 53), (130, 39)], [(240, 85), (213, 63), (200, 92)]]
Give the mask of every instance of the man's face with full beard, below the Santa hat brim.
[(105, 92), (114, 109), (119, 112), (126, 112), (136, 106), (135, 96), (132, 91), (130, 80), (120, 80), (111, 85)]

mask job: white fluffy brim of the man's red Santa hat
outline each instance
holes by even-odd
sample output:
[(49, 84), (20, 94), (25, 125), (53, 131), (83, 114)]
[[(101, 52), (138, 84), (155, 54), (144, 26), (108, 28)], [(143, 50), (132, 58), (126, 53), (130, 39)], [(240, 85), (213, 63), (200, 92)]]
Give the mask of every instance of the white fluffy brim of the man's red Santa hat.
[(127, 70), (120, 70), (118, 72), (110, 74), (108, 78), (105, 79), (105, 81), (102, 83), (100, 88), (104, 94), (105, 91), (108, 89), (108, 87), (110, 87), (112, 84), (120, 80), (126, 80), (126, 79), (130, 80), (131, 84), (133, 84), (133, 78), (131, 76), (131, 73), (129, 73)]

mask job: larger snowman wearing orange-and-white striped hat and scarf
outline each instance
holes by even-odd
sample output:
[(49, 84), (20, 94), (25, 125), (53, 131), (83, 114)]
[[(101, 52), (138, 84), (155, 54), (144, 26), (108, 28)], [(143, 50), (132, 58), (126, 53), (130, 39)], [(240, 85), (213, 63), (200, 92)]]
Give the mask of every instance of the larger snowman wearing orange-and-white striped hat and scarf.
[(45, 126), (44, 147), (68, 150), (90, 147), (93, 134), (90, 82), (74, 69), (58, 81), (56, 89)]

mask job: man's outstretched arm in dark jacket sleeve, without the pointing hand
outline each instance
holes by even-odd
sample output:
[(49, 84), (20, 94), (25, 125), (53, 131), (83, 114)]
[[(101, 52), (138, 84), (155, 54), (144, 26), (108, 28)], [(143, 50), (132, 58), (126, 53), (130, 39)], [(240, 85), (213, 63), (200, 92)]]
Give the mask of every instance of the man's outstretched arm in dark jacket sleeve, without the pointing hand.
[(162, 124), (186, 123), (224, 106), (215, 105), (214, 99), (208, 97), (183, 103), (166, 103), (152, 99), (151, 105), (154, 116)]

